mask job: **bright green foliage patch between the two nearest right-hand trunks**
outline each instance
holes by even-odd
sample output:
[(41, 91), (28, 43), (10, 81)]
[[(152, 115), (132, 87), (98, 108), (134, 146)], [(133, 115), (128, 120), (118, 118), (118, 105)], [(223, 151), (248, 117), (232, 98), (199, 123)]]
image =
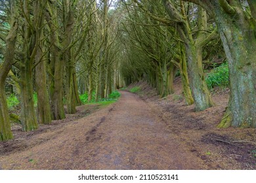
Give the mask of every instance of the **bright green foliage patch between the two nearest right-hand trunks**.
[(229, 85), (228, 78), (228, 64), (223, 63), (221, 66), (213, 69), (211, 73), (208, 73), (206, 76), (206, 84), (209, 89), (214, 88), (215, 86), (224, 86)]

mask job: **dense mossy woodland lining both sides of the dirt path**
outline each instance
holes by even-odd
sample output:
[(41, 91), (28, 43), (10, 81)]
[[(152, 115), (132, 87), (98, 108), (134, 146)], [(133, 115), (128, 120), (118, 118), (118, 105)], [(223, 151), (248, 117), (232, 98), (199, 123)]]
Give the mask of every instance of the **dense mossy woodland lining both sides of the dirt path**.
[(12, 139), (10, 95), (23, 131), (75, 113), (83, 93), (108, 99), (146, 80), (166, 97), (177, 75), (186, 105), (205, 110), (207, 70), (222, 63), (230, 99), (219, 127), (256, 127), (255, 26), (253, 0), (0, 1), (0, 139)]

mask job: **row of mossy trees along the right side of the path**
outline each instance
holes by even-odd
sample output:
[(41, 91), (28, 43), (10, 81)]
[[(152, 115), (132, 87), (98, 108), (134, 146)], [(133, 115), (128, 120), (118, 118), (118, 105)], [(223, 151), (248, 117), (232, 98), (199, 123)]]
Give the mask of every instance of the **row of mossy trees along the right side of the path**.
[[(127, 11), (121, 67), (129, 84), (144, 78), (165, 97), (179, 69), (187, 105), (212, 107), (203, 66), (221, 56), (230, 73), (230, 99), (219, 127), (256, 127), (256, 1), (123, 1)], [(219, 41), (221, 40), (221, 42)], [(223, 52), (216, 50), (221, 46)]]

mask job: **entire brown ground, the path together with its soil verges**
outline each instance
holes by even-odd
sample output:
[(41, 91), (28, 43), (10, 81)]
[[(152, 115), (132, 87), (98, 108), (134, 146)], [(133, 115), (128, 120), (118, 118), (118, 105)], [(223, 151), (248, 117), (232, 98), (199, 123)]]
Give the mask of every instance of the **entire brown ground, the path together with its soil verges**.
[(218, 129), (228, 91), (193, 112), (176, 94), (159, 99), (144, 82), (108, 107), (85, 105), (66, 120), (0, 142), (0, 169), (255, 169), (256, 129)]

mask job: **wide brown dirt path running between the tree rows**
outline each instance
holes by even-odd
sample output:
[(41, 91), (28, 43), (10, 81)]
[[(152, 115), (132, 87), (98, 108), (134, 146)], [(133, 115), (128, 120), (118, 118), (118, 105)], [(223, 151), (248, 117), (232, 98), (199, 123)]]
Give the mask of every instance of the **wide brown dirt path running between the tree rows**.
[(207, 169), (155, 110), (121, 91), (116, 103), (1, 156), (0, 169)]

